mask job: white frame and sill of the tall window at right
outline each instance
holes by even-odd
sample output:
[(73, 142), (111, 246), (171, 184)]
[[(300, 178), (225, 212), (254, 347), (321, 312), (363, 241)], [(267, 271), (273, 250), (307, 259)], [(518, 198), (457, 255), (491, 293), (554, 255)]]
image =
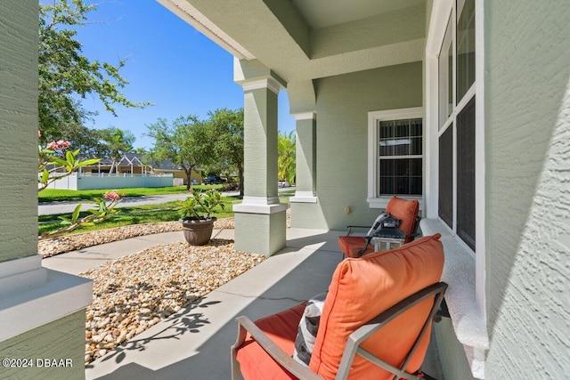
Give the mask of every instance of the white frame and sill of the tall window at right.
[[(425, 150), (424, 163), (424, 167), (426, 167), (424, 197), (427, 219), (424, 219), (420, 226), (425, 234), (440, 232), (443, 235), (442, 242), (446, 252), (444, 278), (450, 283), (445, 298), (452, 315), (453, 328), (460, 343), (464, 344), (473, 375), (477, 378), (484, 378), (485, 351), (489, 344), (485, 316), (485, 25), (484, 2), (482, 0), (475, 1), (476, 82), (469, 89), (469, 93), (476, 93), (476, 255), (473, 255), (473, 251), (457, 237), (455, 231), (449, 229), (438, 217), (438, 138), (443, 132), (443, 129), (438, 130), (438, 56), (450, 15), (453, 17), (452, 25), (455, 34), (457, 18), (455, 14), (452, 14), (454, 2), (451, 0), (434, 3), (426, 44), (424, 141), (427, 149)], [(455, 54), (453, 65), (455, 65)], [(453, 81), (455, 81), (455, 76), (453, 76)], [(454, 98), (455, 87), (453, 85)], [(464, 97), (464, 101), (466, 99), (470, 98)], [(455, 192), (456, 190), (453, 190), (454, 194)], [(456, 207), (454, 206), (454, 213), (455, 210)], [(453, 260), (448, 258), (453, 258)], [(462, 276), (463, 273), (460, 271), (466, 270), (468, 273)]]

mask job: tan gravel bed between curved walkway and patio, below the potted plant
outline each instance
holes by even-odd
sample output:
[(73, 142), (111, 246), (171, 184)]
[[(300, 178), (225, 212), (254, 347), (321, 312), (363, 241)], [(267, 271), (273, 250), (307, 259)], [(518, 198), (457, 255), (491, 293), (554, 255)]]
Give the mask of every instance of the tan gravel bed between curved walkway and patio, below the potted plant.
[(213, 239), (202, 247), (180, 241), (81, 273), (94, 279), (94, 301), (86, 310), (85, 363), (119, 344), (128, 348), (129, 339), (264, 260), (236, 252), (233, 240)]

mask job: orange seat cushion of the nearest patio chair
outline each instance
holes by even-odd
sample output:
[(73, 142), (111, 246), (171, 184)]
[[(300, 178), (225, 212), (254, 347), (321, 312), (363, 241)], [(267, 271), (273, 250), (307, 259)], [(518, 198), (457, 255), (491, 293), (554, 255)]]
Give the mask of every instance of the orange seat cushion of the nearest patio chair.
[[(295, 338), (299, 321), (305, 311), (306, 303), (298, 304), (286, 311), (256, 320), (255, 324), (265, 332), (266, 336), (277, 344), (281, 350), (293, 356)], [(285, 368), (282, 368), (255, 340), (248, 334), (246, 341), (237, 353), (241, 375), (246, 380), (296, 379)]]

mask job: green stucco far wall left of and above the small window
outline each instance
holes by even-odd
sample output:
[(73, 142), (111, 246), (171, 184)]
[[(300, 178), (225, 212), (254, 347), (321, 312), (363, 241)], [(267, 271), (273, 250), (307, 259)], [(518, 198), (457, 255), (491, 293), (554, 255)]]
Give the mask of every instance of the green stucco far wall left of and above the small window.
[[(316, 84), (317, 195), (322, 225), (345, 230), (347, 224), (374, 221), (368, 184), (368, 112), (422, 105), (422, 63), (413, 62), (325, 77)], [(304, 205), (305, 207), (311, 207)], [(351, 214), (345, 214), (350, 206)]]

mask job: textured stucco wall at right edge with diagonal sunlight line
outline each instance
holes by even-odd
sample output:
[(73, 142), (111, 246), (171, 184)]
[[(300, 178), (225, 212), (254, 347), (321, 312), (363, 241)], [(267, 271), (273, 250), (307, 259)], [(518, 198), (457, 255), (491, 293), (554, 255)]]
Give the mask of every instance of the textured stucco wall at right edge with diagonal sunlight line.
[(566, 378), (570, 3), (484, 4), (485, 378)]

